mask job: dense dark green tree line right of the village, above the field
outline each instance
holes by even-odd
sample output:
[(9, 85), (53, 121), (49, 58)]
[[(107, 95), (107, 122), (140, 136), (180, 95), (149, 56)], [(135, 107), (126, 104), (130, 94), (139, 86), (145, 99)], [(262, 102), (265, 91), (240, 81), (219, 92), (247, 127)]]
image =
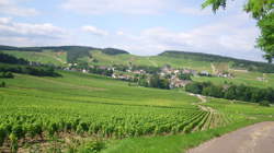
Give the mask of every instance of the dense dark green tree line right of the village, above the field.
[(212, 82), (193, 82), (185, 86), (185, 91), (218, 98), (274, 104), (274, 89), (272, 87), (259, 89), (243, 84), (215, 85)]

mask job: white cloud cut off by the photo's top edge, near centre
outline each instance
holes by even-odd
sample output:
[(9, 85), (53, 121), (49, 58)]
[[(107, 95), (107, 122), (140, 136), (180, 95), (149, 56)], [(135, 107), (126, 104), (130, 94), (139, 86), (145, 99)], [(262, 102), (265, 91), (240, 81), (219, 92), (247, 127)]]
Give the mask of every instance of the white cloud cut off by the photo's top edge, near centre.
[(157, 14), (178, 0), (67, 0), (62, 8), (80, 13)]

